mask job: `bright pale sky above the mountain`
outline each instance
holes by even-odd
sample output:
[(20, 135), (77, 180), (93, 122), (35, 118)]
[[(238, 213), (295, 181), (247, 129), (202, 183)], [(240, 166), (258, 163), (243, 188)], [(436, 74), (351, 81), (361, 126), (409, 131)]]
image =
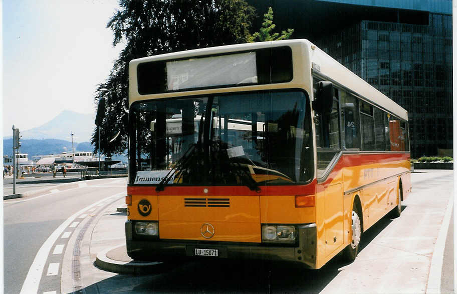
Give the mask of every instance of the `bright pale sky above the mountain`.
[(4, 0), (3, 136), (64, 109), (95, 113), (97, 85), (123, 45), (106, 28), (117, 0)]

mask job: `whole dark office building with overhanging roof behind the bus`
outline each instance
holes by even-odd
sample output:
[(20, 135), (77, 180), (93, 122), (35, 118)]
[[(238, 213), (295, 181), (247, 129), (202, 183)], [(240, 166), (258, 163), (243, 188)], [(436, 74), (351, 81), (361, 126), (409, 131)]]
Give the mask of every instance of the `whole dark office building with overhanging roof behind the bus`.
[(451, 0), (259, 2), (408, 111), (412, 157), (451, 154)]

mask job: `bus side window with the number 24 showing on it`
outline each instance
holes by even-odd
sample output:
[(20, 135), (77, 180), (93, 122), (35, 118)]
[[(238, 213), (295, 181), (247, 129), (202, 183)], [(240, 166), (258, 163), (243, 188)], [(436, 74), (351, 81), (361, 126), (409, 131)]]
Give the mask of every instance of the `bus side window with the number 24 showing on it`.
[(358, 99), (345, 91), (340, 91), (340, 105), (344, 122), (344, 148), (360, 150)]

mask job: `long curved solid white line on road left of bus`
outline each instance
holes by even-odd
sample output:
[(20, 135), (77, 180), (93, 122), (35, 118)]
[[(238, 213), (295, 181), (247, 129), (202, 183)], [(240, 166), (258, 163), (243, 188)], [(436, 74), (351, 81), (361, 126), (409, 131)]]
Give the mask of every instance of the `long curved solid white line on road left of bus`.
[(125, 192), (118, 193), (109, 197), (106, 197), (104, 199), (101, 199), (70, 216), (65, 220), (49, 237), (48, 239), (43, 243), (41, 248), (38, 250), (37, 255), (35, 256), (34, 261), (32, 262), (32, 265), (29, 268), (29, 272), (27, 273), (26, 279), (24, 280), (24, 283), (22, 284), (21, 288), (21, 294), (34, 294), (38, 292), (38, 287), (40, 285), (40, 280), (41, 280), (41, 275), (43, 273), (46, 260), (48, 259), (49, 252), (51, 251), (51, 248), (53, 244), (56, 242), (56, 240), (59, 238), (59, 236), (62, 234), (62, 232), (68, 227), (68, 225), (81, 213), (87, 211), (89, 208), (92, 208), (93, 206), (97, 205), (100, 202), (106, 201), (107, 199), (111, 199), (120, 195), (125, 194)]

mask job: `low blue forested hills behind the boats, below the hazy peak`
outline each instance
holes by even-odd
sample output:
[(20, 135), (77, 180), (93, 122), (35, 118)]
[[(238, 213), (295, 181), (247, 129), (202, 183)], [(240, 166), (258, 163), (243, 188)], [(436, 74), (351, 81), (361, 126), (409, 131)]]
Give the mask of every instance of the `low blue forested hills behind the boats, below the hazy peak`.
[[(75, 151), (93, 151), (94, 147), (89, 142), (73, 144)], [(59, 154), (61, 152), (71, 152), (71, 141), (59, 139), (21, 139), (21, 153), (28, 153), (29, 158), (35, 155)], [(13, 139), (3, 140), (3, 152), (13, 154)]]

